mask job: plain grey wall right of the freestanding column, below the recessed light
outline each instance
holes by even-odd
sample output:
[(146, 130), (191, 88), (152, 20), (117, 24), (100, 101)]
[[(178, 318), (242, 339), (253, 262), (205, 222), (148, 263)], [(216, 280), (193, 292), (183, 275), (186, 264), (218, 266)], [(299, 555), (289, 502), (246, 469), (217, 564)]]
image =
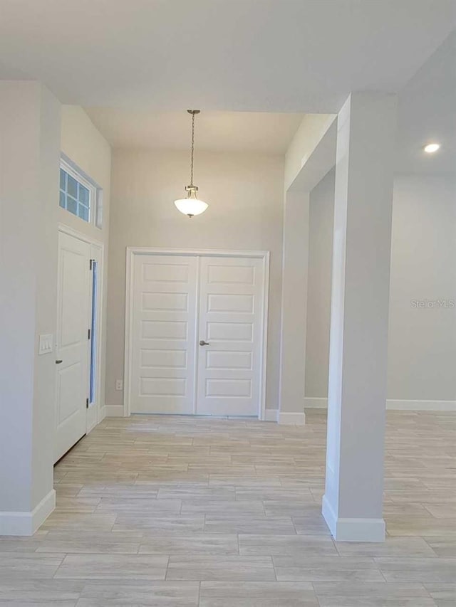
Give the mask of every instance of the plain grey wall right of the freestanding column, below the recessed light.
[(397, 176), (393, 201), (388, 399), (456, 401), (456, 179)]

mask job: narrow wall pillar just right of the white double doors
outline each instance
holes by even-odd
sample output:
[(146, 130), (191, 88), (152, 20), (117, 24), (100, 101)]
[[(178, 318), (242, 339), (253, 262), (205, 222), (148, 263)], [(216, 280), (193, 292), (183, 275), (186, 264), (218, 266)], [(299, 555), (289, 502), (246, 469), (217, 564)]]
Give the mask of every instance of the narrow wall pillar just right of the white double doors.
[(306, 421), (306, 307), (309, 193), (287, 192), (284, 209), (279, 423)]

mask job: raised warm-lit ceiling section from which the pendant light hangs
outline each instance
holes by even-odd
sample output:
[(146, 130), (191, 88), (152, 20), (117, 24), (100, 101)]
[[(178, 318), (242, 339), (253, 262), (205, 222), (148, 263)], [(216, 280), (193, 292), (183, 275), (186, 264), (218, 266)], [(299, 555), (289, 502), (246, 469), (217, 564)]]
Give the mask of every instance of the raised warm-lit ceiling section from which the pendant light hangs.
[[(192, 118), (186, 111), (151, 112), (84, 108), (113, 147), (189, 149)], [(195, 117), (196, 149), (284, 154), (304, 115), (202, 112)]]

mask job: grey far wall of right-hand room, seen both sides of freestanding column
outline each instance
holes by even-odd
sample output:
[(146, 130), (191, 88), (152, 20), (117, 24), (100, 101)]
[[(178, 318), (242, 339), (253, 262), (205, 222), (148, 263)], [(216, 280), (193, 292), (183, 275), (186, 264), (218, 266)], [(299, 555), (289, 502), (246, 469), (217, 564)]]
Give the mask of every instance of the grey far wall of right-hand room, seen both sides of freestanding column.
[[(311, 192), (306, 405), (326, 405), (333, 190), (328, 174)], [(388, 346), (389, 401), (456, 401), (456, 179), (395, 176)], [(401, 406), (401, 403), (391, 403)], [(413, 406), (410, 404), (410, 406)], [(425, 405), (423, 405), (425, 406)]]

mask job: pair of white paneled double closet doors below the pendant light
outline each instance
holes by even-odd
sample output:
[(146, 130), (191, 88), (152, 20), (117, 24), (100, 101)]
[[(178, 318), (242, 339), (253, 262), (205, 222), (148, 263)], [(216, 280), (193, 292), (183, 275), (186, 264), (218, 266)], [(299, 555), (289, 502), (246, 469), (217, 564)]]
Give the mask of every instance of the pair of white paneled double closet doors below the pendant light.
[(265, 260), (134, 255), (130, 412), (258, 416)]

